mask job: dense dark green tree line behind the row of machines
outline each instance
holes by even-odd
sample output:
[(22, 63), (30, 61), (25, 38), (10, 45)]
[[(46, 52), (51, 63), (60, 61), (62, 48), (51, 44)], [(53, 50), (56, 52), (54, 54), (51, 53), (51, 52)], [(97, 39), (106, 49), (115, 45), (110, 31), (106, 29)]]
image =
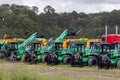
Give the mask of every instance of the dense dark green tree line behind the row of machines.
[(120, 26), (120, 10), (90, 14), (76, 11), (55, 13), (55, 9), (49, 5), (43, 10), (44, 13), (38, 14), (36, 6), (1, 5), (0, 38), (4, 34), (27, 38), (34, 32), (46, 38), (55, 38), (68, 27), (83, 29), (77, 37), (97, 38), (104, 34), (105, 25), (109, 26), (108, 33), (115, 33), (115, 26)]

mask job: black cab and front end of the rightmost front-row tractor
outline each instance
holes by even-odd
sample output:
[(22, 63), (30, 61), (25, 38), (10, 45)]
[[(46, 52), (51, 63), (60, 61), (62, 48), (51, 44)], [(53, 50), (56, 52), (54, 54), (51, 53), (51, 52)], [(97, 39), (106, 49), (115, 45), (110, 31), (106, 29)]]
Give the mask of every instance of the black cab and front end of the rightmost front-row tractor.
[(98, 55), (98, 68), (109, 69), (111, 67), (112, 65), (111, 50), (112, 50), (112, 46), (110, 44), (108, 43), (101, 44), (101, 53)]

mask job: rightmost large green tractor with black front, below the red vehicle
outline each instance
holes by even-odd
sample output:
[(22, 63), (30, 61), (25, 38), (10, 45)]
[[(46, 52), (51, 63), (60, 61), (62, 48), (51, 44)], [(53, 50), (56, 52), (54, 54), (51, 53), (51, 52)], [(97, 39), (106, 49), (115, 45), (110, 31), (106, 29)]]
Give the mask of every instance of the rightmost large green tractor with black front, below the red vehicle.
[(116, 45), (101, 43), (98, 53), (91, 55), (92, 59), (96, 59), (98, 68), (120, 68), (120, 53), (118, 49), (115, 49)]

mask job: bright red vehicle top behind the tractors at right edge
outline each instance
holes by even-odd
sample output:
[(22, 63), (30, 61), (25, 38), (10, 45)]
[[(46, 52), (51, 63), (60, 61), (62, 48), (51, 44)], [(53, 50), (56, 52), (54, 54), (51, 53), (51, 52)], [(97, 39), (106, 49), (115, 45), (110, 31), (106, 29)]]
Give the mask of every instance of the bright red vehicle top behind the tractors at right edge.
[(120, 42), (120, 34), (108, 34), (107, 37), (106, 37), (106, 35), (102, 35), (101, 42), (107, 42), (109, 44), (113, 44), (115, 42)]

